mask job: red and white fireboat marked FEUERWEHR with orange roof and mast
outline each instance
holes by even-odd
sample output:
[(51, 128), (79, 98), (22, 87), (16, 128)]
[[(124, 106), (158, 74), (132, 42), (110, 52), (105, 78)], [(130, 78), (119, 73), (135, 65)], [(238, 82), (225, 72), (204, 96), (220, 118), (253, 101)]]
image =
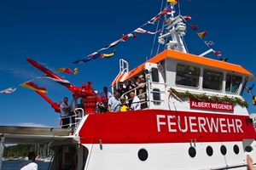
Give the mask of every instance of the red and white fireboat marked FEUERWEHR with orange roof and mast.
[[(91, 82), (76, 87), (43, 65), (38, 70), (84, 99), (73, 128), (0, 127), (3, 144), (50, 144), (55, 155), (49, 169), (247, 169), (247, 155), (256, 162), (256, 133), (241, 94), (253, 74), (241, 65), (189, 54), (183, 43), (184, 17), (176, 15), (176, 0), (167, 0), (165, 32), (158, 42), (166, 48), (129, 70), (119, 60), (112, 91), (136, 77), (145, 77), (145, 108), (139, 111), (97, 113), (101, 99)], [(139, 87), (137, 87), (139, 88)], [(127, 96), (133, 88), (122, 96)], [(60, 105), (36, 91), (51, 107)], [(137, 94), (139, 95), (139, 94)], [(142, 94), (140, 94), (142, 95)], [(128, 102), (129, 99), (127, 99)], [(1, 161), (2, 159), (0, 159)]]

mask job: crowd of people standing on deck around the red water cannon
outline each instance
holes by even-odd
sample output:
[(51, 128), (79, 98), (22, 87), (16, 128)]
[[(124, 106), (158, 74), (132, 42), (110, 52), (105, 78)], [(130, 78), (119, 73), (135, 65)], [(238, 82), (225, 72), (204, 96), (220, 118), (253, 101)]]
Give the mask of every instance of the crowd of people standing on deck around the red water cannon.
[[(96, 104), (96, 112), (117, 112), (117, 111), (137, 111), (147, 108), (147, 95), (146, 86), (143, 75), (135, 78), (135, 82), (131, 79), (125, 82), (119, 82), (118, 88), (115, 88), (113, 94), (108, 91), (107, 87), (103, 88), (99, 94), (100, 102)], [(78, 104), (77, 99), (79, 96), (73, 94), (73, 100), (68, 105), (68, 98), (64, 97), (61, 102), (61, 127), (67, 128), (75, 124), (75, 117), (81, 116), (76, 108), (84, 109), (84, 99), (80, 99)]]

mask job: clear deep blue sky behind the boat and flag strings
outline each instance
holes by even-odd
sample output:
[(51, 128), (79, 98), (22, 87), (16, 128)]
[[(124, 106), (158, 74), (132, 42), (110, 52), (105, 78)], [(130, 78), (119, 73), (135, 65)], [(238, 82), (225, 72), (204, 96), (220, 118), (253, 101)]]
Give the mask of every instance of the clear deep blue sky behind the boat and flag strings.
[[(166, 1), (166, 0), (165, 0)], [(130, 1), (0, 1), (0, 90), (17, 87), (13, 94), (0, 94), (0, 125), (58, 126), (59, 114), (34, 91), (19, 87), (34, 77), (42, 76), (26, 62), (29, 57), (49, 70), (78, 67), (78, 75), (61, 74), (76, 86), (91, 81), (102, 91), (119, 72), (119, 59), (130, 63), (131, 69), (150, 57), (154, 35), (138, 34), (135, 39), (120, 42), (111, 59), (96, 59), (83, 65), (72, 65), (77, 59), (103, 48), (160, 12), (161, 0)], [(256, 24), (253, 0), (205, 1), (180, 0), (181, 13), (191, 15), (190, 25), (207, 31), (205, 40), (212, 40), (229, 62), (242, 65), (254, 75)], [(155, 31), (155, 26), (143, 27)], [(189, 53), (201, 54), (207, 47), (189, 30), (185, 37)], [(113, 48), (104, 53), (112, 53)], [(155, 53), (155, 50), (154, 50)], [(217, 59), (215, 55), (208, 55)], [(48, 96), (59, 102), (64, 96), (72, 99), (67, 88), (50, 80), (37, 80), (48, 89)], [(250, 86), (252, 83), (249, 83)], [(256, 94), (256, 88), (253, 89)], [(250, 104), (248, 111), (256, 112), (251, 96), (243, 96)]]

